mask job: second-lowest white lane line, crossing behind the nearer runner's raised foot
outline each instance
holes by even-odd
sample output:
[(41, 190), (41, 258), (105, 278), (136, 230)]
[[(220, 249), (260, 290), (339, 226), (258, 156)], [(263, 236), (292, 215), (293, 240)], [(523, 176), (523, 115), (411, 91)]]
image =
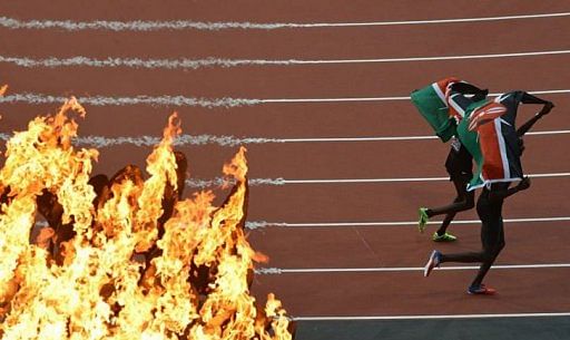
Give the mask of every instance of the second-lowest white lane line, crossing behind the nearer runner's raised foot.
[[(570, 268), (570, 263), (540, 263), (540, 264), (498, 264), (493, 270), (513, 270), (513, 269), (560, 269)], [(479, 265), (450, 265), (435, 268), (438, 271), (464, 271), (478, 270)], [(256, 274), (278, 275), (278, 274), (325, 274), (325, 273), (379, 273), (379, 272), (422, 272), (423, 266), (379, 266), (379, 268), (259, 268), (255, 270)]]

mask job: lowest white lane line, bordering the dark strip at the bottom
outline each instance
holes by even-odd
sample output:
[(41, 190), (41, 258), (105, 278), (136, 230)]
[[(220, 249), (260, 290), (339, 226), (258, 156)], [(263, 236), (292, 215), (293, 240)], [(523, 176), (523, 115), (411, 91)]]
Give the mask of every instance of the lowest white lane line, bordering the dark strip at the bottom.
[(495, 313), (495, 314), (441, 314), (441, 315), (353, 315), (353, 317), (294, 317), (295, 321), (365, 321), (365, 320), (441, 320), (441, 319), (502, 319), (502, 318), (556, 318), (570, 317), (560, 313)]

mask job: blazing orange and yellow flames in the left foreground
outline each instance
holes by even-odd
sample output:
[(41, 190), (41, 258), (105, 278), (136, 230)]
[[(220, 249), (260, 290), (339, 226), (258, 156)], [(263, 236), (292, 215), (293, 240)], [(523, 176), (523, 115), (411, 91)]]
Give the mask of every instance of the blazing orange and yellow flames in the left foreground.
[[(0, 91), (6, 88), (0, 89)], [(96, 149), (76, 149), (86, 111), (73, 98), (7, 143), (0, 171), (1, 339), (292, 339), (273, 294), (249, 293), (254, 262), (244, 233), (247, 161), (210, 191), (183, 200), (186, 158), (173, 149), (176, 114), (147, 158), (114, 177), (91, 177)], [(48, 221), (30, 242), (36, 215)]]

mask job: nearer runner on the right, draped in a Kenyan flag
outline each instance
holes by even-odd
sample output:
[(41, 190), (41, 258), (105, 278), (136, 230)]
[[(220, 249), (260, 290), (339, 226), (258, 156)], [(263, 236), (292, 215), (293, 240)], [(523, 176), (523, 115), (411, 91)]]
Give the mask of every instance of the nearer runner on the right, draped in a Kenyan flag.
[[(543, 108), (514, 130), (520, 103), (542, 104)], [(478, 103), (470, 108), (466, 118), (458, 127), (458, 134), (478, 163), (478, 173), (473, 176), (468, 190), (473, 191), (475, 187), (484, 186), (476, 203), (476, 212), (482, 222), (482, 251), (443, 254), (434, 250), (425, 264), (424, 276), (430, 275), (431, 271), (443, 262), (480, 262), (479, 272), (468, 288), (468, 292), (470, 294), (495, 293), (493, 289), (483, 284), (483, 279), (505, 244), (503, 202), (504, 198), (530, 186), (530, 179), (522, 177), (520, 137), (553, 107), (552, 103), (524, 91), (512, 91), (499, 96), (493, 103)], [(515, 181), (520, 183), (509, 188)]]

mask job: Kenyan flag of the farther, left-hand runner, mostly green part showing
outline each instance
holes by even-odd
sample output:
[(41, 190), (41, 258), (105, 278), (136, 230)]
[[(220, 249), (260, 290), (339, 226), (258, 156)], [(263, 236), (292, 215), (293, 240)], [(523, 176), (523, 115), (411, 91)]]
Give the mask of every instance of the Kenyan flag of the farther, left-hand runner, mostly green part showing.
[(459, 79), (446, 78), (422, 89), (414, 90), (411, 95), (412, 103), (442, 142), (448, 142), (455, 135), (456, 126), (454, 120), (450, 119), (448, 100), (445, 98), (448, 85), (455, 81), (459, 81)]

